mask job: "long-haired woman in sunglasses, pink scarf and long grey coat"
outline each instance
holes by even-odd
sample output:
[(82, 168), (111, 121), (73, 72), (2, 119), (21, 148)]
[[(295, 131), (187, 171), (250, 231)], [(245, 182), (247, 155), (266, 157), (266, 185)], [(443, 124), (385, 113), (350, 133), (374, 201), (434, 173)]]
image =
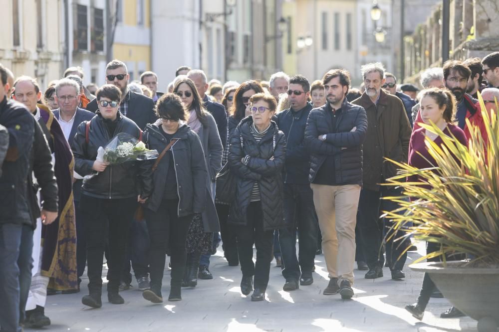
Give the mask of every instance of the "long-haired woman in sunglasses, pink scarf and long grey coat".
[[(184, 275), (184, 287), (196, 287), (198, 267), (202, 254), (212, 254), (214, 232), (220, 231), (215, 209), (215, 177), (222, 168), (222, 141), (217, 123), (212, 114), (205, 110), (203, 100), (198, 94), (194, 82), (189, 78), (179, 80), (173, 92), (178, 95), (189, 113), (187, 124), (198, 134), (205, 156), (208, 175), (205, 178), (206, 209), (202, 215), (195, 215), (187, 235), (187, 268)], [(208, 269), (208, 266), (204, 266)], [(201, 271), (200, 271), (201, 272)]]

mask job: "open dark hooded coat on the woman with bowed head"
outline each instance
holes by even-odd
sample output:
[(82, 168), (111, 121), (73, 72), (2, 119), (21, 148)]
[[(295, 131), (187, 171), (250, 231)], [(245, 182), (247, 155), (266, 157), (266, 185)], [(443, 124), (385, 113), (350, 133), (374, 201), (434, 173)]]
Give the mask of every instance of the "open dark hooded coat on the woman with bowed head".
[[(168, 145), (165, 136), (160, 131), (161, 120), (148, 124), (144, 132), (144, 143), (149, 149), (161, 153)], [(188, 125), (181, 126), (174, 135), (179, 139), (171, 147), (177, 176), (179, 195), (179, 217), (193, 213), (202, 213), (206, 205), (206, 170), (205, 157), (201, 141)], [(156, 212), (163, 200), (170, 153), (166, 153), (160, 160), (158, 168), (152, 174), (154, 191), (146, 202), (149, 210)], [(152, 160), (153, 162), (156, 160)], [(152, 165), (151, 165), (152, 166)]]

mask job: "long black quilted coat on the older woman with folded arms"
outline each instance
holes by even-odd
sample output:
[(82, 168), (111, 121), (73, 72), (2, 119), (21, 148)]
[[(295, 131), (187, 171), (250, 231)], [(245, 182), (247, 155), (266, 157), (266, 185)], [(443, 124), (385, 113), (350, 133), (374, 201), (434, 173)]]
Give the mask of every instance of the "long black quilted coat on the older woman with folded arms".
[[(263, 229), (281, 228), (285, 226), (281, 171), (286, 156), (286, 138), (272, 121), (271, 128), (257, 143), (250, 132), (252, 123), (252, 117), (246, 117), (230, 136), (229, 166), (238, 177), (238, 185), (228, 222), (236, 225), (248, 223), (246, 212), (250, 205), (251, 189), (256, 181), (260, 189)], [(248, 166), (245, 166), (241, 158), (247, 155), (251, 158)], [(272, 156), (273, 160), (270, 160)]]

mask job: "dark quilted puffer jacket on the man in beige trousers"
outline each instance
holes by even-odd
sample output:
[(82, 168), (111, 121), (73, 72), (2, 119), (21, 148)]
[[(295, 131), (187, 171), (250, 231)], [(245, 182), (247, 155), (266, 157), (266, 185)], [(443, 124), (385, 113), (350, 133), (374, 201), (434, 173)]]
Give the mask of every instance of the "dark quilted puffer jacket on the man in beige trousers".
[[(313, 109), (308, 116), (305, 144), (311, 154), (309, 180), (313, 182), (327, 156), (334, 156), (335, 182), (362, 185), (362, 142), (367, 132), (366, 111), (345, 98), (334, 130), (328, 112), (331, 112), (331, 108), (326, 104)], [(353, 127), (356, 130), (350, 131)], [(318, 138), (323, 134), (327, 134), (325, 141)]]

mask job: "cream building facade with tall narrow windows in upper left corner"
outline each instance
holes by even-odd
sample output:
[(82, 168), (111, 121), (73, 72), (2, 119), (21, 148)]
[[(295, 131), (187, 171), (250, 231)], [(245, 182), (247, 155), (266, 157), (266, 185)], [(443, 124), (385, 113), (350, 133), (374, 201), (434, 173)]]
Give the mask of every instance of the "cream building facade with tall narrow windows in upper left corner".
[(14, 76), (36, 78), (44, 89), (58, 79), (63, 66), (63, 24), (58, 0), (2, 1), (0, 62)]

